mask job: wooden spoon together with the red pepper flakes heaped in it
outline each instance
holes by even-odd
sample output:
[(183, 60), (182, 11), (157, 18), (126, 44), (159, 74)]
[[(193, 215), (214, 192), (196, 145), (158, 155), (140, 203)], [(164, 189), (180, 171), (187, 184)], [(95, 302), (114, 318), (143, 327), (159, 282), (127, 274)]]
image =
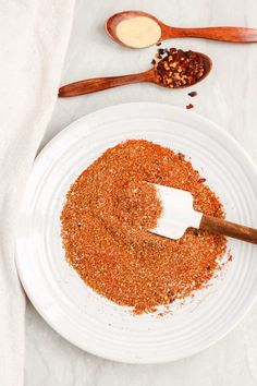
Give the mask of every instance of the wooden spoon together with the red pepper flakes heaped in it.
[[(163, 58), (162, 55), (164, 55)], [(154, 60), (154, 68), (146, 72), (71, 83), (59, 89), (59, 96), (72, 97), (140, 82), (156, 83), (168, 88), (185, 88), (203, 81), (212, 67), (209, 57), (195, 51), (183, 51), (175, 48), (159, 49), (157, 57), (160, 61), (156, 63)]]

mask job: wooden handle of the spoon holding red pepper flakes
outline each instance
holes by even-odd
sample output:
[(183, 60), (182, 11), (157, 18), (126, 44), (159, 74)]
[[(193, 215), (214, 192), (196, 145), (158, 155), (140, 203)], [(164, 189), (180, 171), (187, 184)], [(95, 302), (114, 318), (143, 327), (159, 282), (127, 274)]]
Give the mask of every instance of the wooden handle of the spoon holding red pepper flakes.
[(77, 95), (90, 94), (102, 89), (119, 87), (126, 84), (150, 82), (149, 71), (139, 74), (123, 76), (96, 77), (75, 83), (70, 83), (59, 89), (59, 97), (72, 97)]

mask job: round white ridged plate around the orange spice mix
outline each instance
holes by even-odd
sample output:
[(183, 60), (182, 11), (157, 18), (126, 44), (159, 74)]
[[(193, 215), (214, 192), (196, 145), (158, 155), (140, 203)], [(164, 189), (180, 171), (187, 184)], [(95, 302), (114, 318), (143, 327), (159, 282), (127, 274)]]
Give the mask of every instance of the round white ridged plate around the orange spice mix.
[(21, 209), (16, 264), (35, 307), (74, 345), (122, 362), (173, 361), (216, 342), (249, 309), (257, 293), (257, 248), (230, 241), (234, 258), (225, 275), (164, 317), (134, 316), (88, 288), (64, 258), (60, 212), (78, 174), (127, 138), (146, 138), (192, 157), (228, 218), (257, 226), (257, 171), (230, 135), (168, 105), (119, 105), (72, 123), (37, 157)]

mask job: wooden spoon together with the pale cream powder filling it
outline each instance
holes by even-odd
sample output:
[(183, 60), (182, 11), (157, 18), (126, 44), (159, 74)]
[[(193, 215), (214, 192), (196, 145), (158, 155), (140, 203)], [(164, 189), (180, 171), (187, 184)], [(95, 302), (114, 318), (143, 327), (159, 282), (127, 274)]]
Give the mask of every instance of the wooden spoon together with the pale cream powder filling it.
[(115, 43), (131, 48), (144, 48), (178, 37), (197, 37), (232, 43), (257, 41), (257, 29), (255, 28), (178, 28), (169, 26), (151, 14), (142, 11), (115, 13), (107, 20), (106, 29)]

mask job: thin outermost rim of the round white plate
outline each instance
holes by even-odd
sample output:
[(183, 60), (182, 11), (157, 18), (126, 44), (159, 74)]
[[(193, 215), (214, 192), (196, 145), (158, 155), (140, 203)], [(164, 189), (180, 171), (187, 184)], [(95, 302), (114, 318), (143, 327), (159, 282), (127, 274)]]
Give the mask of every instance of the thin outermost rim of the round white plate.
[[(255, 170), (255, 173), (257, 176), (257, 166), (256, 164), (254, 162), (254, 160), (252, 159), (252, 157), (249, 156), (249, 154), (245, 150), (245, 148), (237, 142), (236, 138), (234, 138), (231, 133), (229, 133), (228, 131), (223, 130), (222, 126), (220, 126), (219, 124), (212, 122), (211, 120), (209, 120), (208, 118), (205, 118), (196, 112), (186, 112), (184, 109), (180, 108), (180, 107), (176, 107), (176, 106), (172, 106), (172, 105), (169, 105), (169, 104), (161, 104), (161, 102), (148, 102), (148, 101), (142, 101), (142, 102), (125, 102), (125, 104), (117, 104), (117, 105), (112, 105), (112, 106), (109, 106), (109, 107), (105, 107), (105, 108), (101, 108), (101, 109), (97, 109), (90, 113), (87, 113), (87, 114), (84, 114), (82, 116), (81, 118), (78, 118), (77, 120), (71, 122), (70, 124), (68, 124), (64, 129), (62, 129), (58, 134), (56, 134), (45, 146), (44, 148), (39, 152), (39, 154), (37, 155), (35, 161), (34, 161), (34, 165), (33, 165), (33, 168), (32, 168), (32, 171), (37, 167), (37, 164), (41, 160), (41, 158), (45, 157), (45, 154), (47, 154), (48, 149), (51, 148), (52, 146), (56, 145), (56, 143), (60, 140), (60, 137), (66, 135), (66, 133), (69, 133), (70, 131), (73, 130), (73, 125), (76, 125), (76, 124), (79, 124), (79, 122), (82, 122), (83, 120), (85, 119), (90, 119), (90, 118), (94, 118), (94, 116), (97, 116), (101, 112), (106, 112), (108, 110), (113, 110), (113, 109), (120, 109), (120, 108), (126, 108), (126, 107), (132, 107), (132, 106), (135, 106), (136, 107), (136, 111), (138, 106), (145, 106), (145, 107), (149, 107), (150, 109), (154, 109), (154, 108), (158, 108), (158, 107), (164, 107), (164, 108), (169, 108), (170, 110), (172, 110), (173, 112), (176, 112), (176, 111), (180, 111), (180, 112), (183, 112), (183, 113), (189, 113), (192, 116), (195, 116), (198, 120), (205, 122), (207, 125), (211, 126), (211, 132), (208, 133), (208, 136), (211, 135), (211, 133), (213, 131), (216, 131), (218, 134), (220, 133), (225, 140), (230, 141), (233, 143), (233, 145), (235, 146), (235, 148), (237, 148), (237, 150), (240, 150), (240, 153), (245, 157), (245, 159), (247, 160), (247, 162), (250, 164), (253, 170)], [(139, 114), (138, 114), (139, 117)], [(126, 117), (127, 118), (127, 117)], [(134, 118), (134, 117), (133, 117)], [(215, 138), (217, 140), (217, 137), (215, 136)], [(30, 177), (32, 177), (32, 171), (30, 171), (30, 174), (28, 177), (28, 180), (27, 182), (29, 181)], [(26, 188), (24, 190), (24, 197), (26, 195)], [(24, 198), (23, 198), (24, 200)], [(21, 203), (21, 207), (23, 206), (23, 200), (22, 200), (22, 203)], [(223, 334), (220, 334), (220, 336), (218, 338), (215, 338), (215, 340), (211, 340), (209, 341), (208, 343), (206, 345), (203, 345), (201, 348), (199, 349), (195, 349), (195, 350), (192, 350), (192, 352), (188, 353), (188, 355), (178, 355), (178, 358), (175, 359), (167, 359), (166, 361), (163, 361), (162, 359), (158, 360), (158, 358), (156, 360), (144, 360), (144, 358), (137, 358), (137, 359), (122, 359), (120, 358), (120, 355), (111, 355), (111, 354), (108, 354), (106, 353), (106, 351), (103, 350), (103, 353), (101, 353), (101, 348), (98, 348), (96, 350), (94, 349), (88, 349), (86, 348), (83, 343), (79, 345), (78, 341), (75, 341), (75, 339), (73, 339), (72, 337), (69, 337), (66, 333), (64, 333), (63, 330), (60, 331), (60, 329), (58, 328), (58, 326), (54, 324), (54, 322), (51, 319), (51, 317), (49, 316), (49, 314), (47, 312), (45, 312), (45, 310), (42, 307), (40, 307), (40, 302), (37, 301), (37, 299), (34, 298), (34, 294), (33, 294), (33, 290), (30, 290), (27, 286), (27, 282), (26, 282), (26, 279), (25, 279), (25, 275), (24, 275), (24, 270), (22, 268), (22, 262), (21, 260), (17, 257), (19, 255), (19, 252), (17, 252), (17, 249), (19, 249), (19, 227), (16, 229), (16, 239), (15, 239), (15, 264), (16, 264), (16, 268), (17, 268), (17, 274), (19, 274), (19, 277), (20, 277), (20, 280), (22, 282), (22, 286), (28, 297), (28, 299), (30, 300), (32, 304), (34, 305), (34, 307), (36, 309), (36, 311), (39, 313), (39, 315), (47, 322), (47, 324), (57, 333), (59, 334), (60, 336), (62, 336), (65, 340), (68, 340), (69, 342), (71, 342), (72, 345), (74, 345), (75, 347), (78, 347), (79, 349), (82, 349), (83, 351), (86, 351), (86, 352), (89, 352), (94, 355), (97, 355), (97, 357), (101, 357), (101, 358), (105, 358), (105, 359), (108, 359), (108, 360), (112, 360), (112, 361), (115, 361), (115, 362), (120, 362), (120, 363), (131, 363), (131, 364), (155, 364), (155, 363), (169, 363), (171, 361), (176, 361), (176, 360), (180, 360), (180, 359), (183, 359), (183, 358), (188, 358), (193, 354), (196, 354), (198, 352), (201, 352), (203, 350), (206, 350), (207, 348), (213, 346), (215, 343), (217, 343), (218, 341), (220, 341), (225, 335), (228, 335), (242, 319), (243, 317), (247, 314), (247, 312), (249, 311), (249, 309), (253, 306), (253, 303), (256, 301), (256, 298), (257, 298), (257, 291), (256, 293), (253, 295), (253, 299), (252, 301), (249, 302), (248, 306), (245, 309), (245, 311), (242, 313), (242, 315), (240, 315), (240, 317), (237, 317), (234, 323), (230, 325), (229, 328), (227, 328)]]

